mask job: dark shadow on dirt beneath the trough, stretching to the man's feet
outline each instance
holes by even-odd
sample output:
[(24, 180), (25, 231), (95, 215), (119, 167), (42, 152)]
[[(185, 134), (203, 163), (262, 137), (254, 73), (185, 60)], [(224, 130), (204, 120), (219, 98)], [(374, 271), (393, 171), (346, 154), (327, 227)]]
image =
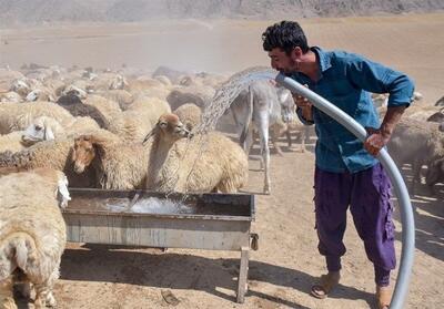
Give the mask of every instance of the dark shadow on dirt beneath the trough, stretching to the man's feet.
[[(61, 278), (81, 281), (104, 281), (141, 285), (171, 289), (194, 289), (235, 301), (235, 297), (216, 288), (235, 291), (239, 259), (211, 259), (193, 255), (130, 251), (124, 247), (90, 245), (89, 249), (67, 249), (61, 265)], [(157, 253), (155, 253), (157, 251)], [(121, 264), (119, 261), (122, 261)], [(211, 276), (210, 276), (211, 275)], [(218, 278), (212, 281), (208, 278)], [(251, 260), (250, 281), (263, 281), (310, 292), (316, 278), (297, 269)], [(258, 297), (291, 308), (306, 308), (251, 288), (248, 297)], [(340, 286), (331, 298), (364, 299), (369, 303), (373, 295), (352, 287)]]

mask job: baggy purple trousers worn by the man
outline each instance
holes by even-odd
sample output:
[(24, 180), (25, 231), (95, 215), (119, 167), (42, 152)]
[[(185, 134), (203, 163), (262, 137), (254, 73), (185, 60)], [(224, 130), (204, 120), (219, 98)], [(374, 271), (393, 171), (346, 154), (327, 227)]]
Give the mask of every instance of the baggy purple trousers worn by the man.
[(391, 182), (383, 166), (379, 163), (354, 174), (330, 173), (316, 167), (314, 194), (317, 248), (325, 256), (329, 271), (341, 269), (341, 256), (345, 254), (342, 239), (350, 205), (357, 234), (374, 265), (375, 282), (389, 286), (396, 257)]

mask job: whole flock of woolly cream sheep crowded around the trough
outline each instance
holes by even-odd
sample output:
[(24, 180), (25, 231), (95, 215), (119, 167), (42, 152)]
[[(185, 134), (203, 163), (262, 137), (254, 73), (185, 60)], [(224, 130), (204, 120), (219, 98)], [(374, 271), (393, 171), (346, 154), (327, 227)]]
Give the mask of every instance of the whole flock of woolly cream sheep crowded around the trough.
[[(0, 70), (1, 308), (17, 308), (13, 285), (29, 296), (30, 284), (36, 308), (54, 306), (68, 184), (167, 193), (236, 193), (246, 185), (251, 144), (242, 148), (222, 133), (193, 131), (224, 81), (162, 66), (151, 75), (38, 65)], [(283, 133), (291, 144), (290, 133), (304, 130), (296, 117), (281, 119), (282, 106), (264, 109), (275, 110), (265, 113), (266, 126), (274, 144)], [(414, 166), (416, 178), (427, 165), (428, 185), (444, 178), (443, 124), (431, 122), (443, 122), (440, 109), (408, 109), (389, 146), (400, 164)]]

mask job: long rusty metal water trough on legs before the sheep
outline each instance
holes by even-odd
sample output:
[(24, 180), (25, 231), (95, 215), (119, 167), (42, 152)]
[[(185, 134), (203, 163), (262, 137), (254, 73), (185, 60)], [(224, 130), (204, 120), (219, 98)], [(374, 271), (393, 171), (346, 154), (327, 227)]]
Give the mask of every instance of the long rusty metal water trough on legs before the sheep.
[[(258, 236), (250, 230), (253, 195), (173, 194), (167, 199), (164, 194), (147, 190), (79, 188), (71, 188), (70, 194), (72, 199), (63, 210), (68, 241), (240, 251), (238, 302), (244, 301), (249, 250), (258, 248)], [(183, 200), (184, 209), (134, 212), (153, 199)]]

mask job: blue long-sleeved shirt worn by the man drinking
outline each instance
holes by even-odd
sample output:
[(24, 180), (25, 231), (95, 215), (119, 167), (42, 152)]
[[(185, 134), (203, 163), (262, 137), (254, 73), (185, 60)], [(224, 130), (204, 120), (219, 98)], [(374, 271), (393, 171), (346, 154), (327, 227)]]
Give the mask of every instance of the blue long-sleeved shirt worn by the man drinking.
[[(311, 49), (316, 54), (320, 79), (314, 82), (303, 73), (291, 75), (296, 82), (325, 97), (364, 127), (380, 127), (377, 111), (371, 92), (389, 93), (389, 107), (410, 105), (414, 84), (405, 74), (396, 72), (362, 55), (344, 51)], [(305, 124), (315, 124), (317, 135), (316, 166), (332, 173), (356, 173), (377, 163), (363, 148), (363, 143), (336, 121), (313, 109), (313, 122), (297, 115)]]

